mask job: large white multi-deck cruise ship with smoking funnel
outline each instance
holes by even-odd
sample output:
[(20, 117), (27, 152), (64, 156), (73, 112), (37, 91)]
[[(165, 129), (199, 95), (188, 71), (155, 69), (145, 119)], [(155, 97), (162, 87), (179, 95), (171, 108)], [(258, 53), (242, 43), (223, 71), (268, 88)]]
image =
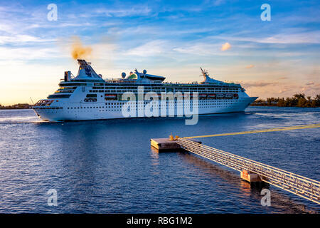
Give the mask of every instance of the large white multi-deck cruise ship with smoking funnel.
[[(193, 94), (196, 94), (197, 114), (200, 115), (243, 112), (257, 99), (247, 95), (240, 84), (210, 78), (202, 68), (201, 83), (168, 83), (164, 82), (166, 78), (163, 76), (151, 75), (146, 70), (139, 72), (137, 69), (128, 75), (122, 73), (121, 78), (102, 78), (101, 74), (93, 70), (91, 63), (83, 59), (78, 59), (78, 63), (80, 66), (77, 76), (65, 71), (58, 90), (32, 106), (39, 118), (46, 121), (67, 121), (149, 117), (144, 114), (143, 109), (151, 100), (139, 100), (139, 95), (137, 100), (123, 99), (126, 92), (139, 93), (139, 88), (143, 88), (144, 95), (152, 92), (159, 97), (164, 93), (183, 96), (190, 94), (188, 101), (191, 105), (195, 102)], [(166, 100), (166, 108), (174, 110), (174, 116), (178, 116), (178, 109), (183, 110), (185, 101), (179, 103), (176, 99)], [(161, 100), (156, 102), (160, 103)], [(122, 108), (128, 103), (137, 106), (134, 107), (137, 115), (123, 115)], [(160, 115), (160, 110), (158, 114), (155, 116), (163, 116)]]

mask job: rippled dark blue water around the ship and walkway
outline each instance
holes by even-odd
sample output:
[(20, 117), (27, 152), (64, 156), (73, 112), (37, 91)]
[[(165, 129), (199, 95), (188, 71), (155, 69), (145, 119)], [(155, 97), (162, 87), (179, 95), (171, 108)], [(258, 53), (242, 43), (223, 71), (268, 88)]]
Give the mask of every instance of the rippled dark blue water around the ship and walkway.
[[(183, 152), (158, 154), (150, 138), (319, 123), (320, 108), (247, 108), (181, 118), (42, 123), (33, 110), (0, 110), (0, 212), (306, 213), (319, 205)], [(320, 129), (203, 138), (206, 145), (320, 180)], [(49, 189), (58, 206), (47, 204)]]

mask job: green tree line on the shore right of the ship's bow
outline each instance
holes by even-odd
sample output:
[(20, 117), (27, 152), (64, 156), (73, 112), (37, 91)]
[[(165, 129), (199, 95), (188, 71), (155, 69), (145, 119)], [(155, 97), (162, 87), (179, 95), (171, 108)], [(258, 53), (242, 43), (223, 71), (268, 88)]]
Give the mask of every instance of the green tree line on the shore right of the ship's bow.
[(267, 98), (266, 100), (255, 100), (253, 106), (279, 106), (279, 107), (301, 107), (316, 108), (320, 107), (320, 94), (314, 98), (306, 96), (304, 93), (294, 94), (291, 98)]

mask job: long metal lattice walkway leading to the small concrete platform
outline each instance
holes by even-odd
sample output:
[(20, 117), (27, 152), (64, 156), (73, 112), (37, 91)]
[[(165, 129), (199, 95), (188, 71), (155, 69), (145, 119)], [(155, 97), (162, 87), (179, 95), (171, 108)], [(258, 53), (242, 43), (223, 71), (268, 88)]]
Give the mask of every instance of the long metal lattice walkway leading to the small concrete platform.
[(312, 180), (292, 172), (287, 172), (277, 167), (265, 165), (245, 157), (233, 155), (230, 152), (208, 147), (185, 138), (178, 138), (176, 142), (178, 145), (181, 145), (184, 150), (188, 150), (189, 152), (193, 152), (196, 155), (218, 162), (221, 165), (238, 170), (239, 172), (247, 170), (255, 173), (259, 175), (262, 181), (267, 182), (270, 185), (274, 185), (282, 190), (292, 192), (304, 199), (309, 199), (312, 202), (320, 204), (319, 181)]

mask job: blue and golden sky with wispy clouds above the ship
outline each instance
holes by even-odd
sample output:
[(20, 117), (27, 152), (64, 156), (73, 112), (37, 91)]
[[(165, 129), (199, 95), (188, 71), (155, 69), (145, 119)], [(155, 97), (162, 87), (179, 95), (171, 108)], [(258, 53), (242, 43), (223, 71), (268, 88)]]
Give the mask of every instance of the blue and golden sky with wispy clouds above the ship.
[[(202, 81), (200, 67), (248, 95), (320, 93), (320, 1), (3, 1), (0, 104), (36, 103), (78, 72), (73, 41), (104, 78), (135, 68)], [(57, 6), (57, 19), (48, 20)], [(262, 4), (270, 21), (262, 21)], [(52, 14), (50, 14), (52, 16)], [(50, 17), (49, 17), (50, 18)]]

